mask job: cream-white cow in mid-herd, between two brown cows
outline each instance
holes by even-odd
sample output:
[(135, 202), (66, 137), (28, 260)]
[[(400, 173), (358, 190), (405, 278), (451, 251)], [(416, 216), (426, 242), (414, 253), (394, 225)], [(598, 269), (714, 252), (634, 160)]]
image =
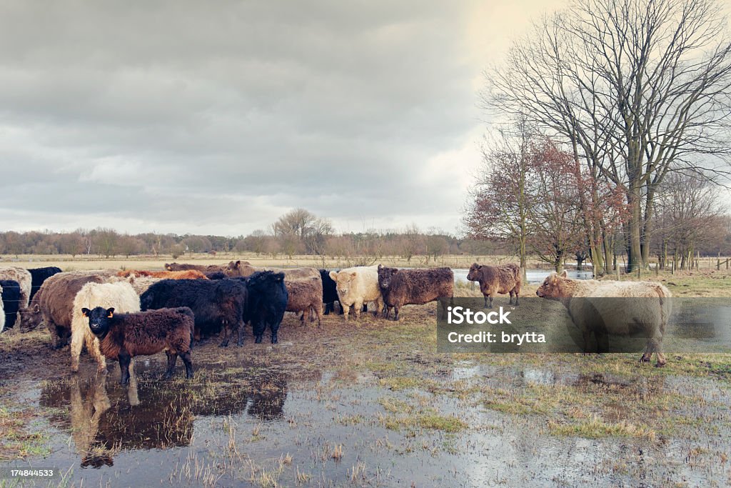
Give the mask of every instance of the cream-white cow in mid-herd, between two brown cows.
[(330, 278), (337, 284), (338, 301), (345, 312), (345, 320), (348, 320), (351, 305), (356, 319), (360, 318), (360, 310), (368, 301), (376, 302), (374, 315), (378, 315), (379, 310), (383, 309), (383, 296), (378, 285), (378, 266), (355, 266), (330, 271)]

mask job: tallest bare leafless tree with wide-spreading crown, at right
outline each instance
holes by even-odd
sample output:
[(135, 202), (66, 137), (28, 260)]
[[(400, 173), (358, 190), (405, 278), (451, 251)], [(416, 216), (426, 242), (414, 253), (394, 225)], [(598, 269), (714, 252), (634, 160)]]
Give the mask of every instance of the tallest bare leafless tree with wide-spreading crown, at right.
[(606, 232), (594, 189), (606, 179), (624, 191), (632, 271), (647, 264), (667, 174), (699, 167), (700, 154), (705, 170), (727, 174), (730, 86), (717, 1), (576, 0), (512, 47), (483, 100), (560, 135), (586, 165), (592, 186), (579, 198), (595, 267)]

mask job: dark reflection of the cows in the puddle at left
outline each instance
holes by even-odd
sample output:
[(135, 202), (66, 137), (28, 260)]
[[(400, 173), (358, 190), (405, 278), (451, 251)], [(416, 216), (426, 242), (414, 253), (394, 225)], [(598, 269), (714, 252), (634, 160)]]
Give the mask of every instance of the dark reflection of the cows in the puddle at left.
[(69, 408), (68, 415), (54, 414), (50, 420), (71, 432), (82, 468), (111, 466), (121, 450), (189, 446), (197, 416), (284, 417), (288, 378), (281, 372), (249, 378), (211, 374), (188, 383), (152, 379), (156, 372), (140, 379), (140, 366), (136, 374), (130, 369), (129, 388), (119, 386), (113, 375), (76, 377), (42, 388), (42, 407)]

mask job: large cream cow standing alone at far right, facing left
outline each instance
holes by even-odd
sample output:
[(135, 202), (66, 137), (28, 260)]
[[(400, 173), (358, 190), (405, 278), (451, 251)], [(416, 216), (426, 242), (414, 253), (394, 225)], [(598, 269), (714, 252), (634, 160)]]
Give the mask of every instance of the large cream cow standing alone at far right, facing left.
[[(670, 290), (655, 282), (600, 282), (594, 279), (570, 279), (567, 275), (566, 271), (551, 273), (540, 285), (536, 295), (564, 304), (581, 331), (585, 351), (590, 350), (592, 332), (599, 350), (605, 347), (607, 335), (642, 334), (648, 340), (640, 361), (649, 362), (652, 353), (656, 353), (656, 366), (664, 366), (666, 360), (662, 353), (662, 336), (672, 312)], [(634, 300), (623, 300), (618, 306), (617, 298)]]

